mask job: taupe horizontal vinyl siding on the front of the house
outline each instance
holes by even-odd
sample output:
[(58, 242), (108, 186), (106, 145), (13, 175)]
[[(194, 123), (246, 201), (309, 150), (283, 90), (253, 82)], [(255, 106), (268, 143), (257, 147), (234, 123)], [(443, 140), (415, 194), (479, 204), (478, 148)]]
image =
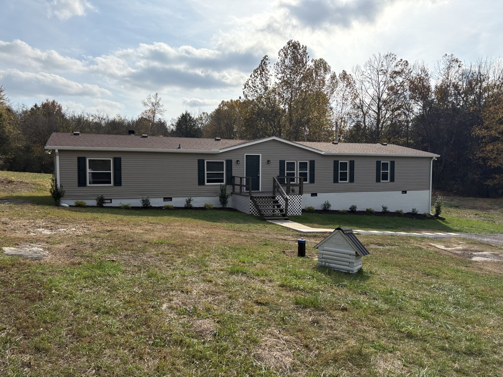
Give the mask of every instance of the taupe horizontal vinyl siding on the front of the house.
[[(218, 184), (198, 185), (197, 160), (232, 159), (232, 174), (243, 176), (245, 154), (262, 156), (262, 191), (272, 190), (272, 177), (279, 174), (280, 160), (316, 161), (315, 183), (304, 183), (304, 193), (429, 190), (430, 187), (430, 157), (327, 156), (276, 140), (215, 154), (59, 150), (60, 180), (65, 199), (69, 200), (94, 199), (98, 195), (116, 199), (217, 196)], [(122, 157), (122, 186), (77, 187), (78, 156)], [(333, 160), (355, 160), (354, 183), (333, 183)], [(395, 161), (395, 182), (376, 183), (376, 160)]]

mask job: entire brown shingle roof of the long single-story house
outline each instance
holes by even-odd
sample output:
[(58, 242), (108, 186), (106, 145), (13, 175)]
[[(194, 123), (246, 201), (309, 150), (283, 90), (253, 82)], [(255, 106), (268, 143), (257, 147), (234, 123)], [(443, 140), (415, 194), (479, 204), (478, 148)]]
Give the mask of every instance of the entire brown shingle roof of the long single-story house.
[[(266, 138), (268, 140), (272, 138)], [(332, 152), (343, 155), (400, 155), (400, 156), (425, 156), (425, 157), (438, 157), (438, 154), (424, 152), (417, 149), (401, 147), (399, 145), (388, 144), (361, 144), (361, 143), (321, 143), (310, 141), (299, 141), (291, 143), (279, 138), (274, 138), (290, 144), (298, 144), (302, 146), (319, 150), (320, 152)], [(261, 140), (251, 141), (252, 143), (260, 143)], [(80, 134), (78, 136), (73, 133), (59, 133), (55, 132), (51, 135), (46, 144), (46, 149), (136, 149), (136, 150), (179, 150), (180, 146), (185, 151), (217, 151), (231, 147), (239, 147), (250, 143), (249, 140), (230, 140), (221, 139), (203, 139), (203, 138), (189, 138), (189, 137), (159, 137), (148, 136), (146, 138), (141, 136), (131, 135), (104, 135), (104, 134)], [(216, 152), (217, 153), (217, 152)]]

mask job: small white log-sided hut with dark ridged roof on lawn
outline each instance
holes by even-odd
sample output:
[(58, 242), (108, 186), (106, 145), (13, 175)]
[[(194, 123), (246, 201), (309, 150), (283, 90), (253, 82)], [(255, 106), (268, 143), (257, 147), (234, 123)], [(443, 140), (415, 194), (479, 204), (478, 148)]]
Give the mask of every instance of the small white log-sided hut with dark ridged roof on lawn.
[(350, 273), (362, 268), (362, 256), (369, 255), (369, 251), (349, 228), (337, 228), (314, 247), (318, 249), (319, 266)]

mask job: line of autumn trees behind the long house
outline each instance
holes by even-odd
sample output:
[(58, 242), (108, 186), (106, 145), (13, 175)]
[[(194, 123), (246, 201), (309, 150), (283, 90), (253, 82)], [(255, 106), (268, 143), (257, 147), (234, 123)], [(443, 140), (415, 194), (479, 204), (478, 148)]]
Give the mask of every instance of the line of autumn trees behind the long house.
[(307, 47), (289, 41), (273, 64), (264, 56), (242, 97), (210, 113), (185, 111), (171, 122), (155, 93), (137, 118), (76, 114), (55, 100), (13, 109), (0, 86), (0, 168), (50, 172), (43, 146), (52, 132), (292, 141), (387, 142), (440, 154), (435, 189), (503, 195), (503, 64), (463, 64), (444, 55), (430, 69), (393, 53), (372, 55), (352, 72), (333, 72)]

